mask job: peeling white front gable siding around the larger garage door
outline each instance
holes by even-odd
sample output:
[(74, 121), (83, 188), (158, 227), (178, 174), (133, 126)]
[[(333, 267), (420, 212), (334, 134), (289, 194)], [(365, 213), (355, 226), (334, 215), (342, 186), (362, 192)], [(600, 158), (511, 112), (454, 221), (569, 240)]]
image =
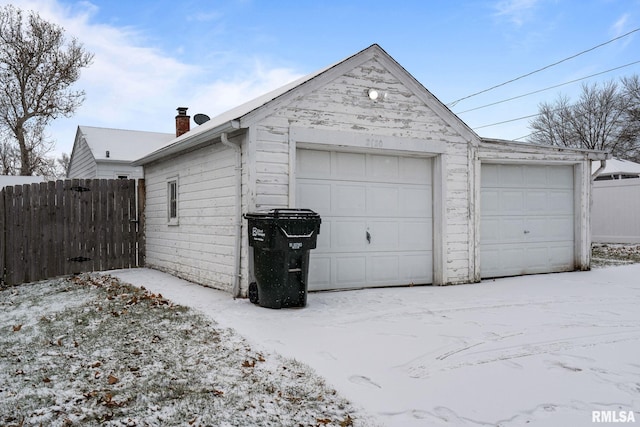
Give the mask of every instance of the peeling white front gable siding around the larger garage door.
[[(371, 101), (366, 95), (370, 87), (386, 93), (386, 98)], [(449, 186), (445, 201), (446, 229), (437, 231), (448, 240), (447, 247), (443, 248), (447, 271), (442, 277), (445, 283), (470, 280), (469, 143), (394, 73), (376, 58), (370, 59), (257, 124), (256, 209), (287, 207), (290, 203), (289, 173), (294, 168), (290, 165), (292, 147), (289, 143), (300, 142), (290, 135), (293, 127), (446, 144), (444, 164)], [(376, 152), (376, 144), (372, 145), (369, 151)], [(342, 149), (348, 146), (346, 138)], [(385, 148), (377, 147), (377, 151), (384, 152)]]

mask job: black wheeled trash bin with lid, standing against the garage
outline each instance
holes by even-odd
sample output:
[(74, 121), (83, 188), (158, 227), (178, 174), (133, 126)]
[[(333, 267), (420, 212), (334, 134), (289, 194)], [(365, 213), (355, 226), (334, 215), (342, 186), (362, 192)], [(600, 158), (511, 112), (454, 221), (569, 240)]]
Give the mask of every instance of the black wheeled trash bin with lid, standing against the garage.
[(310, 209), (247, 213), (255, 283), (251, 302), (267, 308), (307, 304), (309, 252), (320, 233), (320, 215)]

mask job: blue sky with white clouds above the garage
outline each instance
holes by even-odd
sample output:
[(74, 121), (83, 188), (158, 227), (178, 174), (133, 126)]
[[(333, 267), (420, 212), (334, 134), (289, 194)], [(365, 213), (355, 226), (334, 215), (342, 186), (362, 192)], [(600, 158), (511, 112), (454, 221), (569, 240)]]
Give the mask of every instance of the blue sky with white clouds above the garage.
[[(0, 0), (62, 25), (95, 54), (86, 101), (49, 133), (71, 153), (78, 125), (174, 132), (176, 108), (215, 116), (379, 44), (479, 135), (528, 135), (538, 104), (640, 74), (640, 0)], [(624, 67), (623, 67), (624, 66)], [(606, 72), (616, 67), (615, 71)], [(602, 73), (472, 112), (466, 110)]]

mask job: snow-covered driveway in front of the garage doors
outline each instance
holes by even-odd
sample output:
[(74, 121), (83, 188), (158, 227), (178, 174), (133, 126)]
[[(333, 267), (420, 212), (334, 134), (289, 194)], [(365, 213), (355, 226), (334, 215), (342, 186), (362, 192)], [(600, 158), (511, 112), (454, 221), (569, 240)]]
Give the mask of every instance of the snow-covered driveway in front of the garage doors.
[(111, 274), (307, 363), (383, 425), (591, 425), (592, 411), (640, 425), (640, 264), (312, 293), (284, 310), (149, 269)]

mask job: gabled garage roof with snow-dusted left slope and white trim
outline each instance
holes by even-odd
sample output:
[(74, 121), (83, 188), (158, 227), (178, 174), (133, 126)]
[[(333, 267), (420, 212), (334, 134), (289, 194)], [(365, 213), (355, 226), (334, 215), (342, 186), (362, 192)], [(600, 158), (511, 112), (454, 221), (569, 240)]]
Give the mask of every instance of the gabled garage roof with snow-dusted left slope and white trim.
[(359, 56), (365, 57), (366, 55), (369, 55), (369, 54), (380, 54), (381, 56), (388, 58), (393, 64), (395, 64), (395, 66), (401, 69), (402, 72), (406, 76), (408, 76), (410, 80), (413, 81), (414, 87), (418, 88), (417, 89), (418, 91), (428, 94), (428, 96), (431, 97), (431, 99), (436, 101), (435, 104), (437, 105), (435, 106), (437, 109), (440, 109), (442, 113), (445, 113), (444, 115), (455, 118), (455, 121), (459, 125), (461, 125), (466, 132), (472, 135), (475, 135), (477, 137), (475, 132), (473, 132), (466, 124), (464, 124), (464, 122), (462, 122), (462, 120), (460, 120), (457, 116), (455, 116), (455, 114), (451, 112), (444, 104), (442, 104), (439, 100), (437, 100), (435, 96), (433, 96), (424, 86), (422, 86), (420, 82), (415, 80), (413, 76), (411, 76), (404, 68), (402, 68), (402, 66), (398, 64), (389, 54), (387, 54), (379, 45), (373, 44), (368, 48), (354, 55), (351, 55), (350, 57), (342, 61), (336, 62), (332, 65), (329, 65), (328, 67), (325, 67), (314, 73), (308, 74), (298, 80), (288, 83), (278, 89), (268, 92), (258, 98), (255, 98), (242, 105), (239, 105), (236, 108), (228, 110), (225, 113), (222, 113), (216, 117), (213, 117), (211, 120), (207, 121), (206, 123), (192, 129), (191, 131), (169, 142), (164, 147), (161, 147), (158, 150), (154, 151), (153, 153), (150, 153), (142, 158), (139, 158), (138, 160), (133, 162), (133, 164), (144, 165), (144, 164), (162, 159), (166, 156), (170, 156), (172, 154), (176, 154), (181, 151), (194, 148), (202, 143), (210, 141), (212, 138), (220, 136), (220, 134), (224, 132), (231, 132), (233, 130), (240, 129), (241, 127), (243, 127), (243, 124), (241, 122), (244, 120), (244, 118), (246, 118), (256, 110), (259, 110), (267, 106), (268, 104), (271, 104), (272, 102), (276, 101), (279, 98), (282, 98), (289, 92), (292, 92), (293, 90), (297, 90), (301, 86), (304, 86), (305, 84), (310, 83), (312, 80), (321, 78), (323, 75), (328, 74), (330, 70), (335, 69), (344, 63), (347, 63), (351, 59), (354, 59)]

